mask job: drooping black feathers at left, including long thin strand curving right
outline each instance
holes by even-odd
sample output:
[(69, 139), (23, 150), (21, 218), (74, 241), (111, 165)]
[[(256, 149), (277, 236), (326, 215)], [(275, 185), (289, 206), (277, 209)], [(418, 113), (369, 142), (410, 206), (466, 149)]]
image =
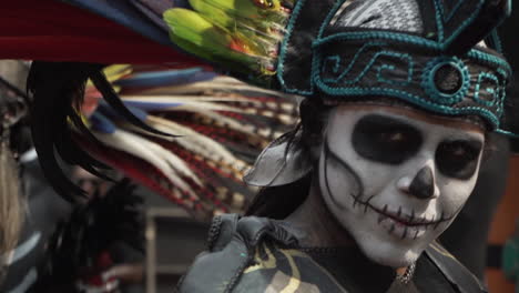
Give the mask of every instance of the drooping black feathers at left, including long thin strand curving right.
[(59, 160), (79, 165), (90, 173), (111, 180), (98, 169), (110, 169), (84, 151), (73, 140), (79, 131), (98, 145), (102, 143), (83, 124), (79, 117), (84, 85), (89, 78), (106, 102), (130, 123), (149, 132), (169, 135), (147, 125), (135, 117), (119, 99), (104, 77), (103, 64), (80, 62), (34, 61), (28, 78), (28, 91), (32, 94), (31, 131), (41, 168), (55, 191), (70, 202), (84, 196), (84, 191), (64, 174)]

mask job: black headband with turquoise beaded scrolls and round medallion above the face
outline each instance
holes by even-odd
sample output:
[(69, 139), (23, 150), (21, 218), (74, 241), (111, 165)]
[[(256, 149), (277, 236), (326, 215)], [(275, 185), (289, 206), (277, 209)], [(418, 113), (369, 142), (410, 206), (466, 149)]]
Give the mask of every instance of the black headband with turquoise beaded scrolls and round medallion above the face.
[(505, 61), (476, 51), (461, 59), (383, 41), (340, 42), (332, 38), (315, 50), (313, 82), (325, 97), (391, 97), (440, 114), (480, 115), (499, 128), (511, 74)]

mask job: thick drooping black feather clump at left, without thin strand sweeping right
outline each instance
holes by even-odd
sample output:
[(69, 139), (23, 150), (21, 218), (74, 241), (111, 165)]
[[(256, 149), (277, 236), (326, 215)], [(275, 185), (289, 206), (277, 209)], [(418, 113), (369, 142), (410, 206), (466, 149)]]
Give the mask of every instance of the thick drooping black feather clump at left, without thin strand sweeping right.
[(84, 195), (84, 192), (63, 173), (54, 151), (58, 151), (59, 156), (69, 162), (75, 161), (84, 169), (100, 165), (100, 162), (85, 156), (80, 146), (72, 141), (68, 119), (82, 103), (89, 75), (102, 67), (34, 61), (29, 72), (28, 91), (33, 98), (30, 119), (34, 148), (45, 178), (55, 191), (70, 202), (75, 202), (75, 195)]

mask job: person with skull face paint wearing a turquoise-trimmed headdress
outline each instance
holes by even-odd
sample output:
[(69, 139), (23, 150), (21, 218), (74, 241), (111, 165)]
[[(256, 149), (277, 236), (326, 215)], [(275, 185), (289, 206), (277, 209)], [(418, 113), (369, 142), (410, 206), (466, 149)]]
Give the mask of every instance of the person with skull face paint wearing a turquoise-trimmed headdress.
[(260, 155), (250, 216), (214, 220), (179, 290), (486, 292), (435, 240), (476, 184), (486, 133), (506, 132), (510, 68), (493, 28), (509, 3), (294, 11), (277, 78), (307, 95), (302, 123)]

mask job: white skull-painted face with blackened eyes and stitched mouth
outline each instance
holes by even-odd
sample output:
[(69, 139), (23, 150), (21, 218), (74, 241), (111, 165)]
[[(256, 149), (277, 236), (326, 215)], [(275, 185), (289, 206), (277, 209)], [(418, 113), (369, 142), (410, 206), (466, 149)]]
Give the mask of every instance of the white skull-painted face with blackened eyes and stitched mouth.
[(391, 107), (342, 105), (319, 156), (326, 205), (373, 261), (415, 262), (470, 195), (485, 135), (470, 122)]

